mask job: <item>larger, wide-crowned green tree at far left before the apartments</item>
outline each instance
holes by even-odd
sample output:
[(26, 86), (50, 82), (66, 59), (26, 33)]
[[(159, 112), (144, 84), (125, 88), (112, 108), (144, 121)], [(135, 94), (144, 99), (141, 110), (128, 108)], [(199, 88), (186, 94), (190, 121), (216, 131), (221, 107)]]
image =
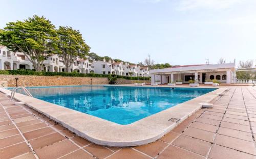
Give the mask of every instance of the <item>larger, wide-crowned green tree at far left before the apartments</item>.
[(37, 15), (24, 21), (9, 22), (0, 32), (0, 43), (13, 52), (23, 52), (37, 71), (41, 71), (45, 58), (55, 53), (57, 39), (51, 21)]

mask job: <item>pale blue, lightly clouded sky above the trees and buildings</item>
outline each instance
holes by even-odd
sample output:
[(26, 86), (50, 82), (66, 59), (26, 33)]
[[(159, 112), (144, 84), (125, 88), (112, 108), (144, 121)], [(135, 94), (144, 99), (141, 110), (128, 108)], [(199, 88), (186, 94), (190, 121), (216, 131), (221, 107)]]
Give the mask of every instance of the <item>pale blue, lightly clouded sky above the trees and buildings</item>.
[(171, 65), (256, 62), (255, 0), (0, 0), (0, 28), (44, 15), (79, 30), (91, 52)]

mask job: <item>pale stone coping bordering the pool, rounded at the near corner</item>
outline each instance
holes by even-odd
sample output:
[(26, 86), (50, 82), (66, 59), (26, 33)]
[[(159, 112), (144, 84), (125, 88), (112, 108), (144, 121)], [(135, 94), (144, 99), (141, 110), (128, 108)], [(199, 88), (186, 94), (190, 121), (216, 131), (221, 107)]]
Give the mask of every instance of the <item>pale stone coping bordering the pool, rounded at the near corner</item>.
[[(128, 125), (119, 125), (19, 93), (15, 93), (15, 99), (26, 102), (26, 105), (30, 108), (55, 120), (76, 135), (92, 143), (105, 146), (128, 147), (144, 145), (158, 140), (199, 110), (202, 106), (200, 103), (210, 102), (225, 90), (226, 88), (218, 88)], [(0, 88), (0, 91), (8, 95), (11, 94), (11, 91), (7, 89)], [(178, 122), (169, 121), (171, 118), (180, 120)]]

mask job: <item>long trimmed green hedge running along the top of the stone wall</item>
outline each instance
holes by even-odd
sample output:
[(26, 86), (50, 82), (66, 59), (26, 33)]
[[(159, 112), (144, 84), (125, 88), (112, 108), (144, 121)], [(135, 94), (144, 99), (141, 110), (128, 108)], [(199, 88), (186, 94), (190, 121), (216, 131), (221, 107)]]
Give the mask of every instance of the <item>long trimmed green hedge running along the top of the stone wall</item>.
[[(19, 75), (45, 75), (45, 76), (72, 76), (72, 77), (108, 77), (109, 74), (96, 74), (96, 73), (78, 73), (78, 72), (37, 72), (33, 70), (27, 69), (19, 69), (19, 70), (0, 70), (0, 74), (19, 74)], [(126, 80), (138, 80), (138, 77), (128, 77), (111, 74), (111, 76), (116, 76), (117, 78), (123, 78)], [(150, 80), (150, 77), (139, 77), (139, 80)]]

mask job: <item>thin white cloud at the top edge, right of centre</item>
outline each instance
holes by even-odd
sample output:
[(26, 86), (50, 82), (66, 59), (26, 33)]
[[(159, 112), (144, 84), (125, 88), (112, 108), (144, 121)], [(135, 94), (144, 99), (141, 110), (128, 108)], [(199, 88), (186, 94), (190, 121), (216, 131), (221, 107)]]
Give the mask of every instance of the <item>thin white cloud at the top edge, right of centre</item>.
[(180, 0), (178, 10), (227, 9), (242, 0)]

